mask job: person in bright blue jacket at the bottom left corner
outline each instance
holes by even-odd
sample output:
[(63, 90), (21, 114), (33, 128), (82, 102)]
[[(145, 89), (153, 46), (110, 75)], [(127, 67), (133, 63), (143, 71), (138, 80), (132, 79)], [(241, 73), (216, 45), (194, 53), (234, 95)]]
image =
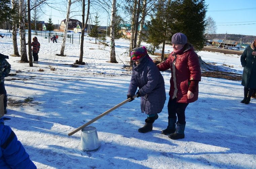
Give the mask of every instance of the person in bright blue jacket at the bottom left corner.
[(36, 169), (15, 133), (4, 125), (4, 119), (0, 118), (0, 168)]

